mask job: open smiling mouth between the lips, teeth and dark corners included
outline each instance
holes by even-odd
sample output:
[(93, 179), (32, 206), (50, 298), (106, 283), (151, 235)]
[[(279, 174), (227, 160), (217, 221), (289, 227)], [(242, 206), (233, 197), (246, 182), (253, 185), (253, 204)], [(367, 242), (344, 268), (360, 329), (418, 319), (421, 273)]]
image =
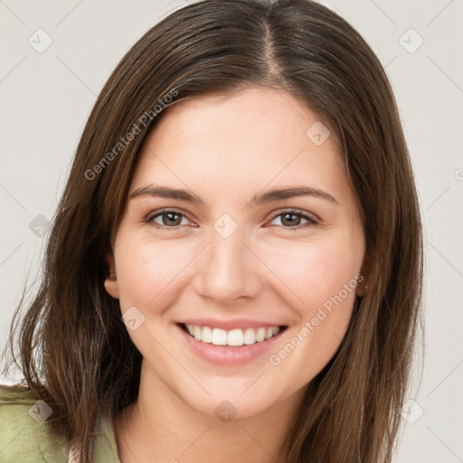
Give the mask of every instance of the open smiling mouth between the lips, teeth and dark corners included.
[(177, 323), (186, 335), (203, 345), (216, 345), (231, 348), (246, 348), (250, 345), (268, 344), (283, 333), (288, 326), (256, 326), (224, 330), (212, 326)]

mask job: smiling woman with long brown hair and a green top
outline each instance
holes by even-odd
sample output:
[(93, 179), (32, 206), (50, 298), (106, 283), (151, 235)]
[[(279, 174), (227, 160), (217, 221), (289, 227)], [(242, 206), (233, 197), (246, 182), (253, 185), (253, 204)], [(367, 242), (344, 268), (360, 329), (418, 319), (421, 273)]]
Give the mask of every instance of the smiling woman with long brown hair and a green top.
[(188, 5), (90, 114), (0, 451), (391, 461), (421, 273), (411, 163), (362, 37), (307, 0)]

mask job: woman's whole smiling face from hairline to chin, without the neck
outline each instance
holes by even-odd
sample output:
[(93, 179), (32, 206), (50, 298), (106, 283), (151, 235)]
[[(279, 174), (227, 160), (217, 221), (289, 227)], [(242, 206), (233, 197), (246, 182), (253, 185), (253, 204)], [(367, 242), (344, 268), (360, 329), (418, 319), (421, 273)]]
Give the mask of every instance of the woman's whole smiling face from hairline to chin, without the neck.
[(333, 357), (364, 231), (327, 134), (288, 93), (251, 87), (184, 100), (146, 137), (105, 283), (146, 387), (244, 417), (304, 391)]

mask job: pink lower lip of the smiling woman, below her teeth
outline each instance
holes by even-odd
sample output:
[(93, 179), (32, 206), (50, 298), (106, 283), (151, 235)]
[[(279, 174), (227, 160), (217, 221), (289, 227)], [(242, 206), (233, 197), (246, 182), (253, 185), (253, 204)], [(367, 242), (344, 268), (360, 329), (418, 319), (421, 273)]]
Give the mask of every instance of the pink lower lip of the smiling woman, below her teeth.
[(199, 357), (203, 358), (203, 360), (207, 360), (213, 364), (227, 366), (246, 364), (258, 358), (274, 346), (280, 335), (286, 331), (286, 329), (283, 329), (279, 331), (277, 335), (260, 343), (232, 347), (228, 345), (203, 343), (186, 333), (181, 326), (176, 325), (176, 328), (180, 331), (180, 335), (184, 338), (186, 345), (188, 345), (194, 354), (197, 354)]

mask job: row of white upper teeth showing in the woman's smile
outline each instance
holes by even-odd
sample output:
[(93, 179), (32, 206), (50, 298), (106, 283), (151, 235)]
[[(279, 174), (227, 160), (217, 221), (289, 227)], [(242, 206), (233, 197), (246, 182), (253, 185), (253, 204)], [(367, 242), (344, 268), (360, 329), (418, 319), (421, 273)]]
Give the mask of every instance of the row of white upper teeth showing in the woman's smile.
[(197, 341), (213, 345), (251, 345), (261, 343), (279, 333), (279, 326), (269, 326), (268, 328), (245, 328), (232, 329), (225, 331), (221, 328), (211, 328), (209, 326), (186, 325), (190, 335)]

